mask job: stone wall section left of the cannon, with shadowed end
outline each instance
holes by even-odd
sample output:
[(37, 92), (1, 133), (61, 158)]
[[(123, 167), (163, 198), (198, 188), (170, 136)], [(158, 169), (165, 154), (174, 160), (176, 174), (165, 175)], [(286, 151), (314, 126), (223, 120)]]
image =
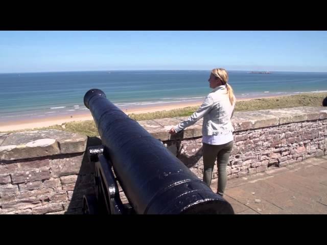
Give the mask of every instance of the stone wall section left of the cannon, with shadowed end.
[(0, 213), (81, 213), (93, 193), (87, 137), (58, 130), (0, 134)]

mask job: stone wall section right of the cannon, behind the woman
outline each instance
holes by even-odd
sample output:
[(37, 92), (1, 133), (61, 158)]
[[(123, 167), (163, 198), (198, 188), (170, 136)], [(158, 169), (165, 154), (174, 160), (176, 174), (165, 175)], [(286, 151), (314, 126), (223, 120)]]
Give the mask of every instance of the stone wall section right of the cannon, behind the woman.
[[(177, 135), (168, 130), (187, 117), (139, 122), (202, 179), (202, 120)], [(244, 177), (310, 157), (327, 155), (327, 109), (299, 107), (236, 112), (228, 178)], [(217, 164), (213, 178), (217, 178)]]

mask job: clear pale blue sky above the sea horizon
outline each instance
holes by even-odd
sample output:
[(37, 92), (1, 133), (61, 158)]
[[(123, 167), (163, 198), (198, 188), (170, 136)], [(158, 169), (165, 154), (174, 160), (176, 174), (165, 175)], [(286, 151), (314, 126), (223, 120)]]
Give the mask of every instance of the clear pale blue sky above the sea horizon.
[(327, 31), (0, 31), (0, 73), (324, 71)]

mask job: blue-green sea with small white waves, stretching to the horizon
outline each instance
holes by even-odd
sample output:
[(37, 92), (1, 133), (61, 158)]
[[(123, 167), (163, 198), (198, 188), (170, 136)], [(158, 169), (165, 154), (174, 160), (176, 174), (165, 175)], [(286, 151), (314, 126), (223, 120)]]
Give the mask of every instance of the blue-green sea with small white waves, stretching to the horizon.
[[(237, 99), (327, 92), (327, 72), (230, 70)], [(210, 70), (104, 70), (0, 74), (0, 123), (83, 114), (83, 97), (92, 88), (127, 110), (201, 102), (212, 90)]]

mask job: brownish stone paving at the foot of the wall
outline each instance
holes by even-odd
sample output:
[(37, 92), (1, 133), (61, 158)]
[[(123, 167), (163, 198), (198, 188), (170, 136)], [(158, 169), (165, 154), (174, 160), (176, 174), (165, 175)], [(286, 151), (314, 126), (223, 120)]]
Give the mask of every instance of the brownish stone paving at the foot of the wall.
[(236, 214), (327, 214), (327, 156), (230, 179), (224, 198)]

